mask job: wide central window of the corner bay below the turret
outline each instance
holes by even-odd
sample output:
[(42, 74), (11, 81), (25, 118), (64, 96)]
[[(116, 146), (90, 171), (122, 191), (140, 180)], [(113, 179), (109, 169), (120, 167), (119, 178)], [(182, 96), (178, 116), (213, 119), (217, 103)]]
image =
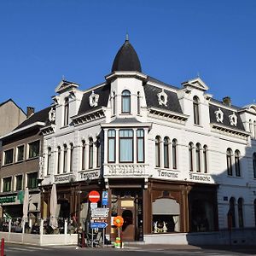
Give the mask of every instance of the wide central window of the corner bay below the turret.
[(133, 131), (132, 130), (119, 131), (119, 162), (120, 163), (133, 162)]

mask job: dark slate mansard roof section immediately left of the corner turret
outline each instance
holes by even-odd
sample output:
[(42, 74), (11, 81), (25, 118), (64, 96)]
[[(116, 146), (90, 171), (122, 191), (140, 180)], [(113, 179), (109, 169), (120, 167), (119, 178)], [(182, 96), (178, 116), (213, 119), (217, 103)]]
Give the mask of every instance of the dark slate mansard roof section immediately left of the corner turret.
[[(89, 104), (89, 97), (91, 95), (92, 90), (94, 90), (95, 94), (99, 95), (99, 101), (98, 101), (97, 107), (90, 107), (90, 104)], [(86, 113), (90, 110), (94, 110), (99, 107), (107, 107), (109, 93), (110, 93), (110, 85), (109, 84), (105, 84), (105, 85), (102, 85), (101, 87), (98, 87), (96, 89), (91, 89), (91, 90), (85, 92), (84, 96), (82, 98), (82, 102), (80, 104), (78, 115), (80, 115), (82, 113)]]

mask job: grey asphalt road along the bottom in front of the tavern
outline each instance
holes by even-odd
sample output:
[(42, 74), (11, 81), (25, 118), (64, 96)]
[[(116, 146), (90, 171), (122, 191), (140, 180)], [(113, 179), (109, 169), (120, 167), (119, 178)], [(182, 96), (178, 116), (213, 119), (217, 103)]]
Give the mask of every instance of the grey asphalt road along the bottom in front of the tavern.
[(235, 256), (235, 255), (256, 255), (255, 247), (234, 246), (234, 247), (194, 247), (194, 246), (172, 246), (172, 245), (127, 245), (122, 249), (113, 247), (80, 248), (75, 246), (59, 247), (34, 247), (28, 245), (7, 244), (4, 251), (6, 256)]

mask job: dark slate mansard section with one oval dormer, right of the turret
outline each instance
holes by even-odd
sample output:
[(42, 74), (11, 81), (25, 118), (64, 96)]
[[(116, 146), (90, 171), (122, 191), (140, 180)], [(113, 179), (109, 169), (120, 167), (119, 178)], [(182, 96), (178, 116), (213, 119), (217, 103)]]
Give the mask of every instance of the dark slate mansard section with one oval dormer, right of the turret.
[(161, 88), (153, 86), (153, 85), (145, 84), (144, 91), (145, 91), (146, 102), (147, 102), (148, 108), (150, 108), (150, 107), (162, 108), (162, 109), (166, 109), (166, 110), (176, 112), (176, 113), (183, 113), (182, 108), (177, 99), (177, 94), (175, 92), (170, 91), (170, 90), (165, 90), (166, 95), (167, 95), (167, 106), (164, 106), (164, 105), (160, 105), (158, 103), (157, 94), (162, 91)]

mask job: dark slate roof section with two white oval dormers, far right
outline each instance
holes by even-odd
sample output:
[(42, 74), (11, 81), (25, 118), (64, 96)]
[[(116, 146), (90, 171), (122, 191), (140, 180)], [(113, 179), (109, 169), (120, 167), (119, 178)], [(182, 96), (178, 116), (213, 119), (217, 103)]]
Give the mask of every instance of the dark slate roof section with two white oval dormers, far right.
[[(211, 100), (212, 101), (212, 100)], [(216, 120), (216, 114), (214, 113), (215, 111), (218, 110), (218, 108), (221, 109), (221, 111), (224, 113), (224, 119), (223, 119), (223, 123), (219, 123), (217, 122)], [(236, 109), (237, 110), (237, 109)], [(236, 110), (232, 111), (230, 109), (227, 109), (227, 108), (222, 108), (222, 107), (218, 107), (218, 106), (215, 106), (215, 105), (212, 105), (212, 104), (209, 104), (209, 113), (210, 113), (210, 122), (213, 123), (213, 124), (218, 124), (218, 125), (225, 125), (229, 128), (232, 128), (232, 129), (239, 129), (239, 130), (242, 130), (242, 131), (245, 131), (245, 128), (242, 124), (242, 121), (241, 121), (241, 117), (240, 117), (240, 114), (239, 113), (236, 113)], [(229, 119), (229, 116), (232, 114), (232, 113), (235, 113), (236, 116), (237, 116), (237, 125), (236, 126), (233, 126), (233, 125), (230, 125), (230, 119)]]

